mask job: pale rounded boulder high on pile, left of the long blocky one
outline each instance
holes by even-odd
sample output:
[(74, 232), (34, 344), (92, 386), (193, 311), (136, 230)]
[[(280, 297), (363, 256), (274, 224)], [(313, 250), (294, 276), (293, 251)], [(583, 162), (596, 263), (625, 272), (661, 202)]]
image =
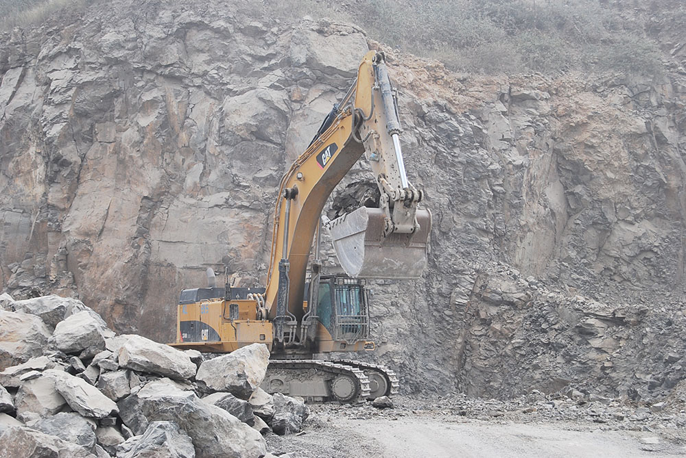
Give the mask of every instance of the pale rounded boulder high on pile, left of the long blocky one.
[(84, 310), (59, 322), (50, 343), (64, 353), (80, 353), (85, 348), (105, 348), (106, 327), (102, 319)]

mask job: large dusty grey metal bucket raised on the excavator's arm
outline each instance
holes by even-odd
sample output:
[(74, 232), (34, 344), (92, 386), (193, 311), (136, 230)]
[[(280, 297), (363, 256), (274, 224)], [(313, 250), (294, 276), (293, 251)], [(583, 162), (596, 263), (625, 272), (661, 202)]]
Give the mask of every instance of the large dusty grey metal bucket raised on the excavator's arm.
[(368, 279), (418, 279), (427, 265), (431, 213), (417, 210), (414, 233), (383, 236), (379, 208), (360, 207), (327, 224), (333, 247), (345, 272)]

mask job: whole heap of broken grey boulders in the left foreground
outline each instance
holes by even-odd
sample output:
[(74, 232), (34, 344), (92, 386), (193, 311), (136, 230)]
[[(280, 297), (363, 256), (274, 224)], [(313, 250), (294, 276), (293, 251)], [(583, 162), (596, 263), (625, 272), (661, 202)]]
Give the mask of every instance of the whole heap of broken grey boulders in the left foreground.
[(260, 457), (302, 400), (259, 388), (269, 351), (206, 359), (115, 335), (82, 302), (0, 296), (0, 458)]

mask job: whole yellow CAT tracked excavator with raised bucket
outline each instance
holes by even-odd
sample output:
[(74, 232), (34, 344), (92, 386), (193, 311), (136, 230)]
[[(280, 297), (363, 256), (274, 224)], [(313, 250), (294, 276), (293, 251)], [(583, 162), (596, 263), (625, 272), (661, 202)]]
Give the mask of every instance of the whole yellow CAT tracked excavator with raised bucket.
[[(271, 352), (262, 384), (270, 393), (342, 403), (396, 393), (397, 377), (386, 366), (314, 356), (373, 350), (366, 279), (416, 279), (427, 264), (431, 214), (418, 208), (423, 192), (407, 180), (400, 133), (384, 55), (369, 51), (351, 88), (281, 179), (266, 288), (231, 285), (228, 275), (218, 288), (208, 269), (207, 288), (180, 294), (171, 345), (227, 353), (261, 342)], [(363, 154), (379, 205), (324, 223), (347, 274), (324, 275), (322, 209)]]

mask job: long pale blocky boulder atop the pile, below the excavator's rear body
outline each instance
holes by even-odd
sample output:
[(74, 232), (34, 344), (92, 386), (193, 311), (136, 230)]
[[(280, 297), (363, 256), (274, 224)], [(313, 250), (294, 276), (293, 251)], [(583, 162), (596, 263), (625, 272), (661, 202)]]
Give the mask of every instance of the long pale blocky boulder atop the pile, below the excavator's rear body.
[(188, 355), (140, 335), (129, 335), (121, 344), (119, 366), (172, 379), (189, 379), (196, 374), (196, 365)]

